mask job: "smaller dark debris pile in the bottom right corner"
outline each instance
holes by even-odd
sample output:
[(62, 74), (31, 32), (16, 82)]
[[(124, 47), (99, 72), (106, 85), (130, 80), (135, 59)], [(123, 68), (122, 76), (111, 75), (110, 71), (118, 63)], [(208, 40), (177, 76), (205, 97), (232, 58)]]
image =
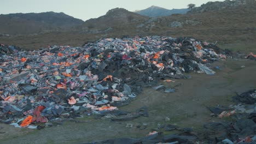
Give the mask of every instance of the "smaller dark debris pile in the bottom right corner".
[(209, 107), (214, 115), (230, 120), (204, 125), (208, 143), (256, 142), (256, 89), (237, 94), (234, 100), (237, 104), (229, 107)]

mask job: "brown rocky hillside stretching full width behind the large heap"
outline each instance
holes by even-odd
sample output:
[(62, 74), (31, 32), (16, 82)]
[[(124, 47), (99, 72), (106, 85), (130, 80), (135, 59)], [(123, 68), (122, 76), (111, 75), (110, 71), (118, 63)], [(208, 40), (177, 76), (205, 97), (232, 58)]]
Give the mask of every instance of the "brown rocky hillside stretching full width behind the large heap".
[[(148, 17), (125, 9), (109, 10), (104, 16), (85, 21), (72, 31), (54, 31), (37, 35), (0, 37), (0, 43), (38, 49), (48, 45), (80, 46), (100, 38), (166, 35), (195, 37), (218, 44), (251, 43), (256, 39), (256, 9), (251, 0), (239, 7), (202, 13)], [(226, 3), (223, 2), (223, 3)], [(211, 4), (211, 3), (210, 3)], [(214, 3), (212, 3), (214, 4)], [(210, 7), (209, 3), (205, 4)], [(220, 3), (221, 5), (221, 3)], [(205, 7), (204, 5), (201, 6)], [(199, 7), (200, 8), (200, 7)], [(1, 23), (2, 25), (2, 23)], [(57, 39), (56, 39), (57, 38)]]

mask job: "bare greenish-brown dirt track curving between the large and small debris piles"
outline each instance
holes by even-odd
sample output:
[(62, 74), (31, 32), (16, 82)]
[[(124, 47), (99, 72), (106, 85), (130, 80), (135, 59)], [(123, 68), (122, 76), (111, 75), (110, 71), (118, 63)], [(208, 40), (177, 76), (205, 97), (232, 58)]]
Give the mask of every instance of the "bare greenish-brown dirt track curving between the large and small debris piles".
[[(192, 79), (175, 80), (174, 83), (161, 82), (166, 87), (176, 87), (175, 93), (164, 93), (152, 88), (144, 89), (131, 104), (120, 107), (121, 110), (135, 111), (146, 105), (149, 117), (139, 117), (129, 122), (110, 122), (108, 119), (91, 120), (86, 123), (65, 122), (63, 125), (30, 130), (14, 128), (0, 124), (1, 143), (82, 143), (88, 141), (112, 139), (115, 137), (146, 136), (158, 124), (176, 124), (178, 127), (193, 127), (200, 131), (207, 122), (219, 121), (210, 116), (206, 106), (232, 104), (231, 97), (256, 86), (256, 61), (220, 61), (212, 64), (219, 66), (216, 75), (190, 74)], [(245, 68), (241, 68), (245, 65)], [(165, 121), (166, 117), (170, 121)], [(132, 128), (126, 128), (131, 123)], [(146, 129), (136, 125), (147, 124)]]

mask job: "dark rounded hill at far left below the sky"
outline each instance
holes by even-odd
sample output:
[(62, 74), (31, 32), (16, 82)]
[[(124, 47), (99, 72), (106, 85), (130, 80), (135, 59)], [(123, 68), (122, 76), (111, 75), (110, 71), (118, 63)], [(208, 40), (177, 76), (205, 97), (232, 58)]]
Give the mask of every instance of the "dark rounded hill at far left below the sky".
[(0, 15), (0, 34), (33, 34), (45, 31), (66, 31), (84, 21), (64, 13), (16, 13)]

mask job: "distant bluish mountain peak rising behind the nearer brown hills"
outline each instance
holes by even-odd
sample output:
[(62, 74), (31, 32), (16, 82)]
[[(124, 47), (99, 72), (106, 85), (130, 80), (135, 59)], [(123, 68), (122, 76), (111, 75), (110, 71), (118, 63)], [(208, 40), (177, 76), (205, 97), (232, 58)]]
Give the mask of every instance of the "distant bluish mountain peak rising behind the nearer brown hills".
[(135, 13), (149, 16), (149, 17), (158, 17), (158, 16), (169, 16), (172, 14), (186, 14), (189, 11), (189, 9), (165, 9), (161, 7), (157, 7), (152, 5), (152, 7), (149, 7), (147, 9), (138, 10), (135, 11)]

